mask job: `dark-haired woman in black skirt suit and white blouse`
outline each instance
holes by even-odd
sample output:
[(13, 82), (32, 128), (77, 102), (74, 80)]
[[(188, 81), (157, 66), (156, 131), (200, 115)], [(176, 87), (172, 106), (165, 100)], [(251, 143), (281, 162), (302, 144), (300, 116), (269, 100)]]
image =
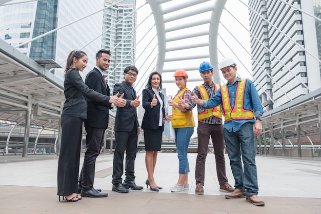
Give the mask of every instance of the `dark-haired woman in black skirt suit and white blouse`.
[(162, 89), (162, 76), (154, 71), (149, 75), (146, 89), (143, 90), (143, 107), (145, 114), (142, 122), (144, 129), (145, 163), (148, 173), (146, 185), (152, 191), (159, 191), (162, 187), (156, 185), (154, 180), (154, 169), (156, 165), (157, 152), (162, 145), (162, 135), (165, 123), (164, 96), (159, 90)]

